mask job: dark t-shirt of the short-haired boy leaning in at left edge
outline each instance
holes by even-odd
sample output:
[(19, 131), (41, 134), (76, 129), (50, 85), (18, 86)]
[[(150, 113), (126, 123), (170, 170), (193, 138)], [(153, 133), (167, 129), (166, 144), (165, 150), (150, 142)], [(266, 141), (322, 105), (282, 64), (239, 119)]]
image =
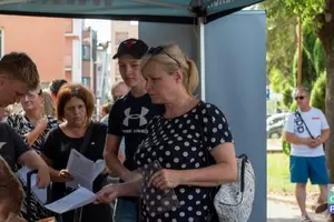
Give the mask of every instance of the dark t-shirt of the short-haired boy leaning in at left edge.
[(29, 145), (7, 123), (0, 123), (0, 155), (7, 161), (12, 171), (21, 154), (30, 150)]

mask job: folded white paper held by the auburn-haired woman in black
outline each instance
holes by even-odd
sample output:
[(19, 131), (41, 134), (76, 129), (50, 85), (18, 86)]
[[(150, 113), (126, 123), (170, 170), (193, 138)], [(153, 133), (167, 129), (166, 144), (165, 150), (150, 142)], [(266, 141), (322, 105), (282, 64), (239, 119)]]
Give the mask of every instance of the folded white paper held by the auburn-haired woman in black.
[(72, 149), (67, 163), (67, 169), (72, 175), (73, 181), (67, 182), (66, 185), (73, 189), (77, 189), (80, 185), (92, 191), (92, 182), (102, 172), (105, 167), (104, 160), (94, 162)]

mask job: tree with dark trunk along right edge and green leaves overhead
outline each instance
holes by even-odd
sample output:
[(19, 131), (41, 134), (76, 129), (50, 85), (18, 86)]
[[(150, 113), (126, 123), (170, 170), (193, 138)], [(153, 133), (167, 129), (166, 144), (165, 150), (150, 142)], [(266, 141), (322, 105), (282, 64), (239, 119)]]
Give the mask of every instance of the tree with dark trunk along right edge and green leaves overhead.
[[(276, 0), (279, 1), (279, 0)], [(334, 1), (333, 0), (281, 0), (285, 14), (299, 17), (306, 31), (316, 33), (322, 42), (326, 68), (326, 118), (334, 129)], [(277, 9), (273, 13), (277, 12)], [(269, 13), (268, 13), (269, 14)], [(326, 155), (331, 183), (334, 183), (334, 137), (326, 143)]]

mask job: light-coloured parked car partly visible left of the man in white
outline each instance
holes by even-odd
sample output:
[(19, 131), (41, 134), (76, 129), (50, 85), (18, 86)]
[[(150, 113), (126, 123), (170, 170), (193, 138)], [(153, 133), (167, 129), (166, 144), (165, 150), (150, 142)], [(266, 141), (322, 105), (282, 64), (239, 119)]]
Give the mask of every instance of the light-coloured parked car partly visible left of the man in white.
[(279, 139), (289, 113), (277, 113), (267, 118), (267, 138)]

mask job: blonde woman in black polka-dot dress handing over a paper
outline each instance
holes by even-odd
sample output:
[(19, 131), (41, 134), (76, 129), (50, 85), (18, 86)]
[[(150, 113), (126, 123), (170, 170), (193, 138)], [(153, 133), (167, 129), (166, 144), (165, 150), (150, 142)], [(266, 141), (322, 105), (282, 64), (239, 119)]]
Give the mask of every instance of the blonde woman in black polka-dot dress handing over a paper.
[[(147, 138), (135, 155), (139, 169), (155, 161), (163, 168), (150, 176), (149, 189), (140, 190), (141, 221), (214, 221), (212, 188), (237, 179), (227, 121), (217, 107), (191, 95), (198, 72), (178, 46), (150, 49), (141, 69), (153, 102), (166, 108), (163, 115), (148, 123)], [(208, 159), (216, 164), (209, 164)], [(109, 202), (117, 196), (138, 195), (138, 184), (106, 186), (98, 200)], [(179, 204), (169, 205), (171, 201), (157, 194), (171, 192), (170, 189), (171, 200)]]

